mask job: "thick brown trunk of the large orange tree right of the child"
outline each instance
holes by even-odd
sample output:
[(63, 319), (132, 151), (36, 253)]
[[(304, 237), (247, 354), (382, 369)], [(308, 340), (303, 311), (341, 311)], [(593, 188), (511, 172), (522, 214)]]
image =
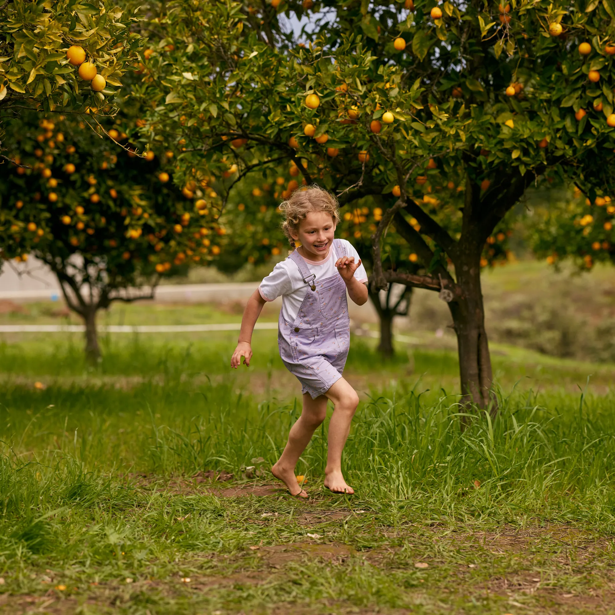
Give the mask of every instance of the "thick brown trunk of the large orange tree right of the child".
[(497, 410), (493, 393), (491, 357), (485, 331), (485, 310), (480, 285), (480, 255), (466, 256), (456, 267), (457, 284), (462, 296), (448, 304), (457, 334), (459, 379), (462, 402), (474, 403), (478, 408)]

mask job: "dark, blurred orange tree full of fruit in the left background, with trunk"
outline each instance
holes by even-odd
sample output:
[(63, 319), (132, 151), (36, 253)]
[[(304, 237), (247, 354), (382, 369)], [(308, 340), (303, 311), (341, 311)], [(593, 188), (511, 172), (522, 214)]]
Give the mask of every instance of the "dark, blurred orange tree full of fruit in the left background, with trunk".
[(124, 114), (101, 124), (39, 117), (6, 124), (9, 151), (29, 168), (0, 166), (2, 256), (23, 261), (31, 250), (49, 265), (84, 320), (86, 354), (97, 359), (98, 310), (149, 297), (172, 268), (207, 260), (220, 225), (199, 198), (205, 188), (180, 190), (161, 170), (169, 167), (164, 148), (141, 157), (101, 138), (105, 127), (127, 143), (133, 121)]

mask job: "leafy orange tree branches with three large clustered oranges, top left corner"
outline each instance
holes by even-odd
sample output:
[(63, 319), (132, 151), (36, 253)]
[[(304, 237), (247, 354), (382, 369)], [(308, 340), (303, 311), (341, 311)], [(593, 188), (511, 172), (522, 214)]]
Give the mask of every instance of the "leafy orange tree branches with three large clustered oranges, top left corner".
[(85, 111), (113, 103), (142, 47), (132, 10), (77, 0), (0, 4), (0, 110)]

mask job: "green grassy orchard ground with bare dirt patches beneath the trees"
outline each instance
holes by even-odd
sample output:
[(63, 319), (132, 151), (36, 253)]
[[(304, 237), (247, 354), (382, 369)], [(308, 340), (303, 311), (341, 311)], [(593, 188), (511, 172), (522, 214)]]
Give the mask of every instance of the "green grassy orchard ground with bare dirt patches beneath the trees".
[[(602, 272), (516, 267), (485, 276), (510, 319), (516, 305), (536, 320), (540, 284), (574, 317), (577, 294), (610, 317)], [(256, 331), (237, 373), (234, 331), (103, 336), (97, 370), (80, 335), (4, 335), (0, 613), (615, 613), (615, 365), (494, 343), (500, 415), (461, 432), (448, 321), (415, 299), (429, 328), (403, 331), (414, 343), (392, 362), (352, 339), (352, 498), (321, 486), (326, 424), (298, 468), (308, 501), (267, 472), (300, 411), (275, 331)], [(0, 315), (65, 319), (42, 303)], [(239, 320), (239, 306), (142, 303), (100, 323)]]

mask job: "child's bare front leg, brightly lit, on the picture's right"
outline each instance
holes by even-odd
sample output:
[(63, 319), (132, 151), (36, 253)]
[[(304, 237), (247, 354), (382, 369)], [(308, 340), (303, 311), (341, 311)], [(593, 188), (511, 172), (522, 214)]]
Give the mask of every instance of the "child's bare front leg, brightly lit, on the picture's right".
[[(354, 493), (342, 474), (342, 451), (350, 432), (350, 424), (359, 405), (359, 395), (344, 378), (325, 393), (335, 409), (329, 423), (329, 448), (325, 468), (325, 487), (335, 493)], [(320, 399), (320, 398), (319, 398)]]

